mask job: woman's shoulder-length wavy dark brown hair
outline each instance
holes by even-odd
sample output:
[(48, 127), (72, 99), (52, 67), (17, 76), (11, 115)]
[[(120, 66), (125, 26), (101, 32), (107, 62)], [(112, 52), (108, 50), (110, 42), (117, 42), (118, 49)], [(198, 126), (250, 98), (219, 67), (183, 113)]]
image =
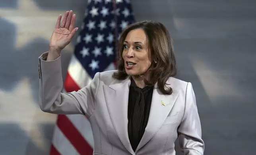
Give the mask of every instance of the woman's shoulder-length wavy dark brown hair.
[[(128, 77), (124, 67), (124, 59), (122, 58), (123, 43), (126, 35), (134, 29), (141, 28), (144, 30), (148, 48), (151, 54), (151, 66), (147, 70), (149, 80), (144, 78), (145, 85), (155, 85), (165, 95), (173, 93), (173, 89), (168, 87), (167, 80), (169, 77), (176, 75), (176, 60), (173, 52), (173, 43), (165, 26), (159, 22), (141, 21), (128, 25), (120, 35), (118, 42), (119, 60), (117, 69), (118, 72), (113, 74), (113, 78), (124, 80)], [(155, 63), (156, 62), (156, 63)]]

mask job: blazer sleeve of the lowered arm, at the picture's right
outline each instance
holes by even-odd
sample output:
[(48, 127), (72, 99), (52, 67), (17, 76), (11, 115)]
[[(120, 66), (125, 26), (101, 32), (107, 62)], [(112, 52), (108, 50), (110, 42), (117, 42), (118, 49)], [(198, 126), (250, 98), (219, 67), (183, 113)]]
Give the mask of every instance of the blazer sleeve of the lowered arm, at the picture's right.
[(178, 127), (178, 133), (180, 134), (180, 148), (184, 155), (204, 154), (204, 141), (202, 140), (196, 97), (190, 82), (186, 88), (184, 115)]

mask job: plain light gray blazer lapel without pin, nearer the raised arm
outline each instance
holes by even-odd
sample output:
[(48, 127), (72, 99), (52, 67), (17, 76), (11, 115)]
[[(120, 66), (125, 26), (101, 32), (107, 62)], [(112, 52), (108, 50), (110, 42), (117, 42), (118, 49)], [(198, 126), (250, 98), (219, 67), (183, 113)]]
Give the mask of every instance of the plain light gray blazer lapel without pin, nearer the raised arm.
[[(118, 80), (116, 80), (118, 81)], [(134, 154), (128, 136), (128, 98), (131, 80), (127, 78), (109, 86), (103, 85), (107, 107), (116, 132), (126, 149)]]

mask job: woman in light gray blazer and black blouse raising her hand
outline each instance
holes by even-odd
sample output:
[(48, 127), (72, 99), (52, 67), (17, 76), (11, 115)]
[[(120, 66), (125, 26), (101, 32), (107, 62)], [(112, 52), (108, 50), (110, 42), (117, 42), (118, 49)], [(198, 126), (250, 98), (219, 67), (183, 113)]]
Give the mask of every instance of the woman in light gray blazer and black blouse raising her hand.
[(203, 155), (204, 142), (191, 83), (174, 78), (171, 38), (161, 23), (128, 26), (119, 40), (118, 70), (96, 73), (78, 92), (63, 87), (61, 50), (78, 28), (72, 11), (58, 17), (50, 49), (39, 57), (40, 107), (56, 114), (86, 115), (94, 155)]

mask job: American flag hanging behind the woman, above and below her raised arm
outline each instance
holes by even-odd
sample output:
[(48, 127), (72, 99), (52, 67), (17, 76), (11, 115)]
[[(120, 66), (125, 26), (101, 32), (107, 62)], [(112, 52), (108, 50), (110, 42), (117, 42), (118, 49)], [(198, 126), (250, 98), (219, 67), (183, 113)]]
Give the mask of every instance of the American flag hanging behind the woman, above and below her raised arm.
[[(116, 69), (117, 40), (134, 23), (130, 0), (89, 0), (64, 83), (66, 92), (88, 85), (95, 73)], [(93, 134), (84, 115), (58, 115), (50, 155), (92, 155)]]

